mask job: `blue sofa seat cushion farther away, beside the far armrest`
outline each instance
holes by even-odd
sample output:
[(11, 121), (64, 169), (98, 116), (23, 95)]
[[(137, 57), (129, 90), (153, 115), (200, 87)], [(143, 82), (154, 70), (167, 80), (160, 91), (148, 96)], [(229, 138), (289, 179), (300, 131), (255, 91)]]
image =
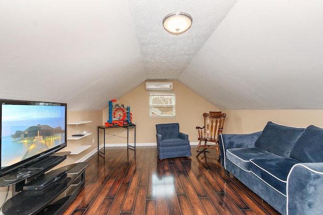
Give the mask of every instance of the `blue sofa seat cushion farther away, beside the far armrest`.
[(250, 159), (258, 158), (282, 158), (273, 153), (267, 152), (259, 148), (240, 148), (228, 149), (227, 158), (243, 171), (250, 172), (249, 163)]

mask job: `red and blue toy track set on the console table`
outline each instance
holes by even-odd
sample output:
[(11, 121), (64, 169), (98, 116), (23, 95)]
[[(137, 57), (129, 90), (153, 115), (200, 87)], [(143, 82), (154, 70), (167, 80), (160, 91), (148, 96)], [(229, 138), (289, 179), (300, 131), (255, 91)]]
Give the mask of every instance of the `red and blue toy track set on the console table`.
[(125, 111), (124, 104), (115, 104), (115, 107), (114, 107), (113, 102), (117, 102), (117, 100), (113, 99), (109, 101), (109, 120), (105, 122), (105, 125), (124, 126), (128, 124), (132, 124), (132, 113), (130, 113), (130, 107), (128, 106), (127, 110)]

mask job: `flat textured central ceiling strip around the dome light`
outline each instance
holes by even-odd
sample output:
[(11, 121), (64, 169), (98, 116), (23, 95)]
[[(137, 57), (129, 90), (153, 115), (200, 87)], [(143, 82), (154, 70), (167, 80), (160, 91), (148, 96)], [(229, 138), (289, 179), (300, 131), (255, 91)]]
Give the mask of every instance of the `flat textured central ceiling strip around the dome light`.
[[(130, 1), (147, 79), (178, 79), (234, 3), (235, 0)], [(172, 35), (164, 30), (162, 20), (178, 11), (190, 14), (193, 23), (186, 33)]]

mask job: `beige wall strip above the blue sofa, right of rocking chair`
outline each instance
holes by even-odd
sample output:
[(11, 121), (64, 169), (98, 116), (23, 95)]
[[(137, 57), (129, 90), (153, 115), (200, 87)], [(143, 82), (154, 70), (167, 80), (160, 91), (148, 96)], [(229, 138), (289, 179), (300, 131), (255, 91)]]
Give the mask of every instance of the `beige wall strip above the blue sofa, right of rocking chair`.
[(224, 133), (260, 131), (268, 121), (279, 124), (323, 127), (323, 110), (222, 110), (227, 114)]

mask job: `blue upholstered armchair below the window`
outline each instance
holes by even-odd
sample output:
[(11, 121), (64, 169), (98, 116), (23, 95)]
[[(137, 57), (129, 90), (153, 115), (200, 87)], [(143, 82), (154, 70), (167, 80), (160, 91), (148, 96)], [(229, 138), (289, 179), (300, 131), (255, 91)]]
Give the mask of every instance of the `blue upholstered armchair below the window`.
[(180, 132), (178, 123), (156, 124), (156, 132), (159, 160), (191, 156), (188, 135)]

